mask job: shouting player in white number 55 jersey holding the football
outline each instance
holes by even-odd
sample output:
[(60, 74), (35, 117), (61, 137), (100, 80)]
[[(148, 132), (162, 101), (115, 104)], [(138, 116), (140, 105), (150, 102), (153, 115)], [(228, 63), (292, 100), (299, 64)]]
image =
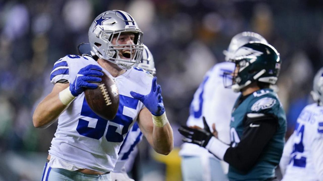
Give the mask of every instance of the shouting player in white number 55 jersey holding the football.
[[(99, 14), (89, 28), (91, 53), (67, 55), (54, 64), (52, 92), (39, 103), (33, 123), (46, 128), (57, 120), (43, 180), (111, 180), (120, 146), (135, 120), (154, 150), (173, 148), (156, 78), (132, 68), (142, 56), (142, 32), (134, 19), (119, 10)], [(86, 103), (84, 89), (101, 81), (103, 72), (116, 82), (120, 103), (116, 117), (105, 120)]]

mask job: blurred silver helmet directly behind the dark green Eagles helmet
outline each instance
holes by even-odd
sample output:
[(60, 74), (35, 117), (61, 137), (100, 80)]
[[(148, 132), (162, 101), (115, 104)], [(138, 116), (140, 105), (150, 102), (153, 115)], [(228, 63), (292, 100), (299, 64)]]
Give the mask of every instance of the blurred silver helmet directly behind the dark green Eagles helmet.
[(268, 44), (266, 39), (258, 33), (254, 33), (254, 32), (238, 33), (234, 35), (234, 37), (231, 39), (228, 50), (223, 51), (223, 54), (225, 55), (225, 61), (229, 61), (230, 59), (234, 58), (234, 52), (239, 47), (252, 41)]

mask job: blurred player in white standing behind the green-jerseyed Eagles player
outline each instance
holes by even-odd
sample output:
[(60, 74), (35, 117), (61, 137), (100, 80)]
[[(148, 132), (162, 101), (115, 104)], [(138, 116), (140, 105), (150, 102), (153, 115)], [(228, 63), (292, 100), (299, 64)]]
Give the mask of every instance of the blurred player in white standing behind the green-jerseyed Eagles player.
[[(229, 60), (234, 52), (250, 41), (267, 43), (261, 35), (253, 32), (236, 34), (223, 53), (225, 60)], [(202, 117), (208, 125), (216, 125), (218, 137), (224, 143), (230, 144), (230, 118), (234, 102), (239, 96), (223, 85), (224, 73), (233, 72), (235, 64), (232, 62), (217, 63), (204, 76), (203, 82), (196, 90), (191, 107), (187, 126), (203, 128)], [(214, 119), (216, 118), (216, 119)], [(182, 157), (182, 176), (184, 181), (225, 181), (228, 164), (219, 161), (213, 154), (203, 147), (184, 143), (180, 151)]]

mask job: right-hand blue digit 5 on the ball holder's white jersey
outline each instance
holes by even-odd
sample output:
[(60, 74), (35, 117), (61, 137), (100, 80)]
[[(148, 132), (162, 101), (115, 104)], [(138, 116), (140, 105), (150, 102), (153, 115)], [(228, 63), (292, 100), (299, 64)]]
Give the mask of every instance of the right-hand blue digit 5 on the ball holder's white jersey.
[(119, 101), (120, 102), (119, 102), (119, 108), (118, 108), (117, 115), (116, 115), (116, 117), (114, 119), (110, 120), (110, 122), (114, 122), (114, 123), (117, 123), (119, 125), (122, 125), (123, 128), (122, 128), (122, 131), (121, 131), (121, 134), (120, 134), (120, 133), (118, 133), (116, 131), (118, 129), (118, 127), (113, 126), (113, 125), (109, 125), (107, 135), (105, 137), (110, 142), (121, 142), (121, 141), (123, 141), (123, 135), (128, 133), (129, 126), (133, 121), (132, 117), (129, 117), (127, 115), (122, 114), (123, 109), (125, 107), (131, 108), (131, 109), (137, 109), (137, 105), (138, 105), (139, 100), (134, 99), (132, 97), (119, 95)]

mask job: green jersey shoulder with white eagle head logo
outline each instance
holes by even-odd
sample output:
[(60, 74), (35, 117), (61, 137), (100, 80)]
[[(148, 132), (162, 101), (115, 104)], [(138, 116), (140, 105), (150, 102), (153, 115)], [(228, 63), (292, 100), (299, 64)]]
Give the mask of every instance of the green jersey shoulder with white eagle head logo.
[(275, 114), (275, 111), (280, 108), (280, 101), (276, 93), (270, 91), (256, 91), (253, 93), (253, 100), (250, 101), (250, 112)]

